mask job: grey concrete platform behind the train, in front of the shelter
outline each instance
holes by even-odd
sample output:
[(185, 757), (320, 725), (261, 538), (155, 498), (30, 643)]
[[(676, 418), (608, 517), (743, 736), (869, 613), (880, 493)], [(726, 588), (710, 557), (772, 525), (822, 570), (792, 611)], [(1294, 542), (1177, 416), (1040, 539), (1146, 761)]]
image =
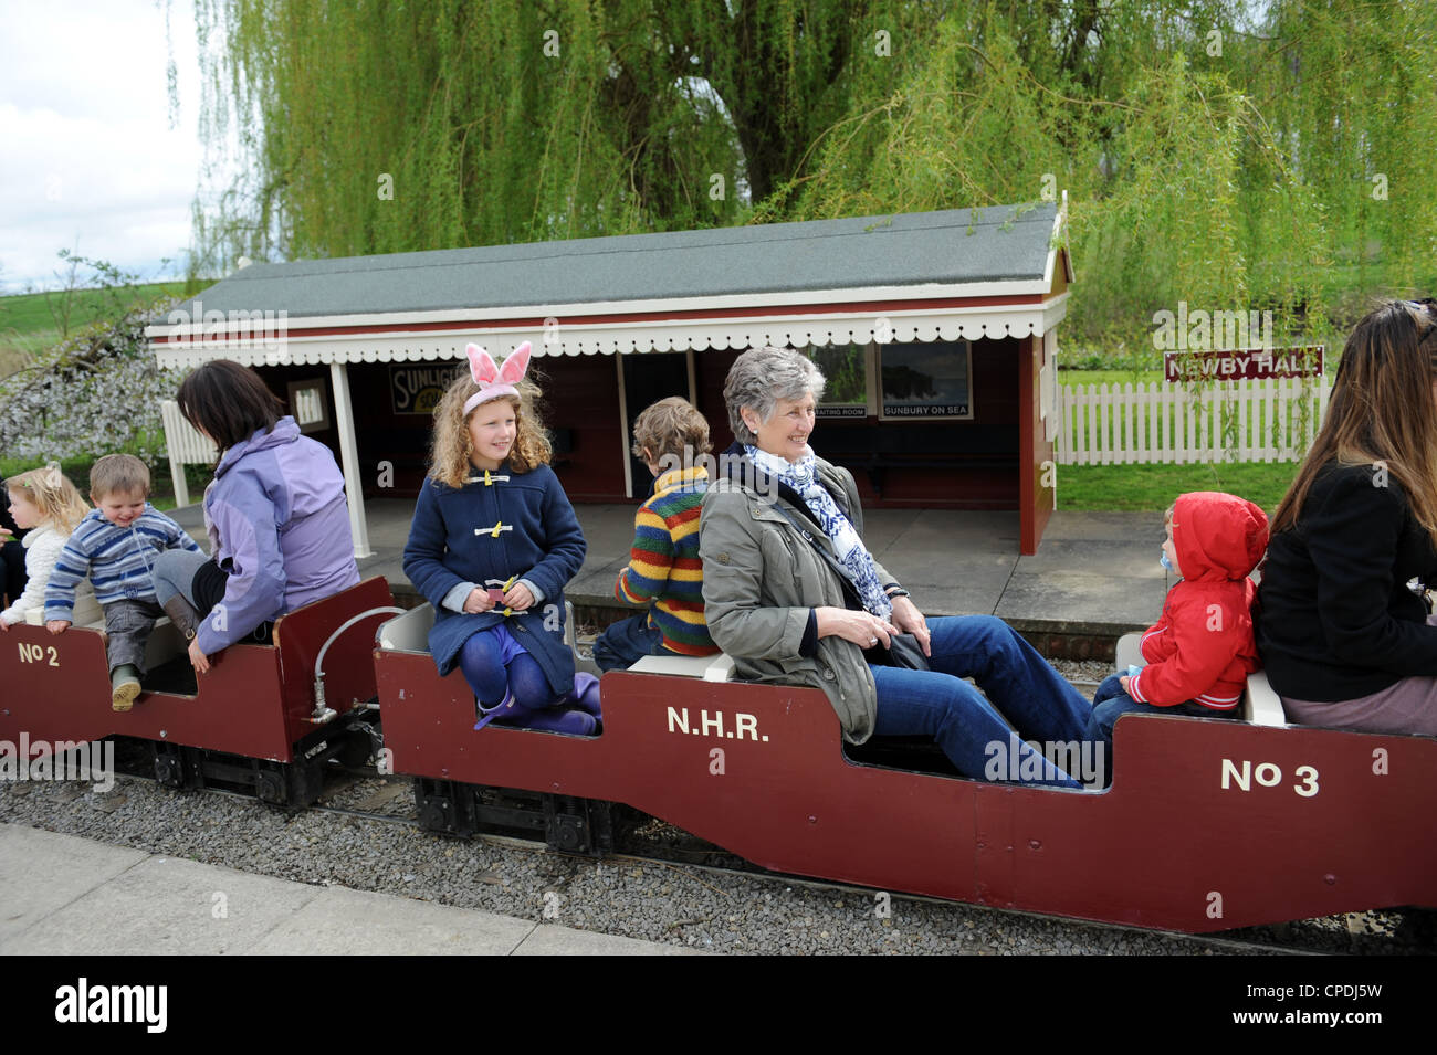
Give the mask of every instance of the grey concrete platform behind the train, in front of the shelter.
[[(374, 557), (361, 574), (382, 574), (395, 594), (414, 594), (402, 553), (414, 502), (371, 500)], [(583, 567), (569, 584), (578, 609), (622, 609), (614, 580), (628, 563), (634, 505), (576, 505), (589, 543)], [(204, 541), (197, 505), (172, 514)], [(869, 510), (867, 541), (874, 555), (907, 586), (930, 616), (1000, 616), (1035, 634), (1117, 637), (1157, 622), (1173, 584), (1158, 566), (1161, 512), (1055, 512), (1038, 554), (1020, 557), (1017, 512)]]

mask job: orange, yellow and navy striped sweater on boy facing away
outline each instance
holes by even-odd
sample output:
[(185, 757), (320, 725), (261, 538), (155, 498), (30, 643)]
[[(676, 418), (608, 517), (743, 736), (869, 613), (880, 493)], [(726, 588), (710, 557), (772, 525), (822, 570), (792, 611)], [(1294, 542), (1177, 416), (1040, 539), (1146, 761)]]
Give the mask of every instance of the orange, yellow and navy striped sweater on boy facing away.
[(664, 647), (683, 656), (718, 652), (704, 622), (704, 564), (698, 558), (698, 510), (708, 489), (703, 466), (673, 469), (654, 481), (654, 497), (634, 515), (634, 548), (614, 594), (650, 603)]

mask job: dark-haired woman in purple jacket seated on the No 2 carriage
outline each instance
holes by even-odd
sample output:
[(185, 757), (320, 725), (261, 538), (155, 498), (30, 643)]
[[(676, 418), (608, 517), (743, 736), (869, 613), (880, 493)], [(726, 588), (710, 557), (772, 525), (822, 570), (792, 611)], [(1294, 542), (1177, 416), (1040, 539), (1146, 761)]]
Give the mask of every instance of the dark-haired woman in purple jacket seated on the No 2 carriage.
[(184, 379), (177, 400), (220, 448), (204, 491), (210, 557), (162, 555), (155, 594), (190, 640), (191, 666), (205, 673), (210, 656), (286, 611), (348, 590), (359, 568), (335, 456), (299, 435), (254, 370), (227, 359), (205, 363)]

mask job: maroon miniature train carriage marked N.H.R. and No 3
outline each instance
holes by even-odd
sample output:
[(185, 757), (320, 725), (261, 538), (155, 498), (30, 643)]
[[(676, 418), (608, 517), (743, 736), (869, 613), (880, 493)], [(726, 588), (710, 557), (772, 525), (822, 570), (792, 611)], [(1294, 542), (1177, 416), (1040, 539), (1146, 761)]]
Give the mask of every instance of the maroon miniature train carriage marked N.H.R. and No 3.
[(1194, 933), (1437, 904), (1430, 738), (1128, 716), (1112, 787), (1055, 791), (855, 762), (815, 689), (634, 672), (604, 676), (598, 738), (476, 732), (431, 620), (385, 624), (375, 653), (430, 827), (464, 828), (471, 785), (517, 788), (550, 820), (568, 804), (550, 841), (583, 848), (576, 804), (621, 802), (777, 871)]

